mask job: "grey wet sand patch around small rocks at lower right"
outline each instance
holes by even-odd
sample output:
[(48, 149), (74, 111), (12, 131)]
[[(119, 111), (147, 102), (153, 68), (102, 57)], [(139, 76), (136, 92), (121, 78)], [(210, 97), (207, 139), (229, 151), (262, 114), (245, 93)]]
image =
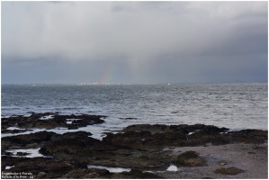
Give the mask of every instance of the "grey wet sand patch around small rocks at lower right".
[[(227, 144), (207, 147), (180, 147), (165, 148), (173, 150), (177, 155), (188, 150), (193, 150), (207, 160), (208, 166), (184, 167), (178, 166), (177, 171), (156, 172), (165, 178), (175, 179), (267, 179), (268, 178), (268, 147), (264, 144)], [(238, 175), (216, 174), (214, 171), (220, 167), (234, 166), (244, 170)]]

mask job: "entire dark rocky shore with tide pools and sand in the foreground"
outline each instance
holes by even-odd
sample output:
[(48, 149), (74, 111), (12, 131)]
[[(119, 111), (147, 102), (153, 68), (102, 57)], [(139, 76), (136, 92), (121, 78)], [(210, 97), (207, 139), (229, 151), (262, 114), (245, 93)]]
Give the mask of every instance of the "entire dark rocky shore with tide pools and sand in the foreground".
[[(12, 134), (1, 138), (2, 178), (268, 178), (267, 130), (137, 124), (101, 140), (88, 131), (47, 131), (76, 130), (102, 118), (57, 112), (2, 118), (2, 135)], [(42, 131), (17, 134), (33, 128)], [(33, 149), (38, 156), (30, 156)]]

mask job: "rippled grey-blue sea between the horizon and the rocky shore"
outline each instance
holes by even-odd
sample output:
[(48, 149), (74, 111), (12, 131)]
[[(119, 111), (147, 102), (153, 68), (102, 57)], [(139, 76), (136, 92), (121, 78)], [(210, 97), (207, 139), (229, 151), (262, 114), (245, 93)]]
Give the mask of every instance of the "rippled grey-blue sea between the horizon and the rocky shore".
[(2, 85), (1, 116), (30, 112), (107, 116), (103, 124), (80, 129), (94, 134), (138, 123), (267, 130), (267, 93), (267, 84)]

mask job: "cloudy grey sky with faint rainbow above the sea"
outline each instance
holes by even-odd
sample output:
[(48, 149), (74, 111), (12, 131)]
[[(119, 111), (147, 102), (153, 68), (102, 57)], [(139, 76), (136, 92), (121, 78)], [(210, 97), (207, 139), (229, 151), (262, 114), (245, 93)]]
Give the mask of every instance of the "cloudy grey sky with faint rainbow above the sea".
[(268, 81), (268, 2), (1, 2), (1, 83)]

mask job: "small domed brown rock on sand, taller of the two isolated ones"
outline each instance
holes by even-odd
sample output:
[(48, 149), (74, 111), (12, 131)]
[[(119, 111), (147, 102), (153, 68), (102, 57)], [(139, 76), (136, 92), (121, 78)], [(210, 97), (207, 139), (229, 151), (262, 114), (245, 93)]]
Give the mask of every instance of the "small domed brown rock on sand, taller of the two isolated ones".
[(195, 151), (186, 151), (175, 158), (178, 166), (207, 166), (206, 160), (200, 157)]

